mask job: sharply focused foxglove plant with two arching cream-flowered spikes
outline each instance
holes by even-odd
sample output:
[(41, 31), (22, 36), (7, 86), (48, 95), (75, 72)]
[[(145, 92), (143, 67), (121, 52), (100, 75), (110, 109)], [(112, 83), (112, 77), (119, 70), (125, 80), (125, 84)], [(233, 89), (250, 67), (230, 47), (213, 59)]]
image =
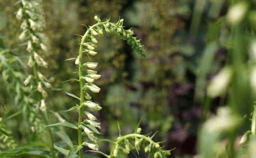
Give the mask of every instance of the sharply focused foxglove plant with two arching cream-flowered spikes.
[[(122, 36), (123, 40), (126, 40), (129, 45), (133, 49), (135, 49), (138, 54), (145, 56), (145, 50), (143, 49), (142, 45), (140, 44), (140, 40), (137, 40), (136, 37), (133, 37), (134, 32), (129, 29), (125, 30), (123, 26), (123, 19), (119, 20), (116, 24), (109, 22), (109, 20), (106, 20), (106, 22), (101, 22), (100, 18), (98, 16), (94, 16), (94, 19), (98, 22), (94, 24), (93, 26), (90, 26), (87, 28), (86, 33), (84, 36), (81, 36), (81, 43), (80, 43), (80, 49), (79, 49), (79, 55), (76, 58), (70, 58), (67, 60), (75, 60), (75, 64), (78, 65), (78, 79), (71, 79), (76, 80), (79, 82), (80, 85), (80, 97), (77, 97), (76, 95), (73, 95), (71, 93), (67, 93), (71, 97), (74, 97), (76, 99), (80, 100), (80, 104), (76, 105), (72, 108), (70, 108), (67, 111), (71, 111), (73, 109), (77, 109), (79, 113), (78, 117), (78, 124), (74, 125), (68, 122), (59, 122), (56, 124), (51, 124), (48, 126), (68, 126), (70, 128), (74, 128), (78, 130), (78, 145), (73, 146), (69, 153), (66, 153), (66, 156), (68, 158), (72, 158), (72, 156), (75, 156), (75, 154), (79, 151), (80, 158), (83, 158), (83, 146), (88, 146), (91, 148), (91, 151), (99, 152), (103, 154), (104, 156), (108, 158), (117, 157), (118, 152), (121, 151), (125, 154), (129, 154), (131, 150), (136, 148), (138, 151), (140, 149), (140, 145), (143, 144), (145, 147), (145, 152), (149, 152), (149, 155), (153, 155), (154, 158), (165, 158), (166, 155), (170, 155), (171, 150), (162, 150), (159, 143), (160, 142), (154, 142), (152, 140), (153, 136), (149, 137), (148, 135), (142, 135), (140, 134), (141, 128), (136, 128), (134, 134), (128, 134), (125, 136), (118, 137), (117, 141), (111, 141), (114, 143), (114, 146), (110, 152), (110, 155), (104, 154), (99, 150), (99, 146), (97, 144), (98, 138), (94, 135), (100, 134), (96, 128), (100, 127), (100, 122), (96, 122), (96, 117), (89, 113), (90, 110), (99, 111), (102, 109), (97, 103), (94, 103), (92, 101), (92, 97), (89, 93), (99, 93), (100, 87), (94, 84), (94, 81), (96, 79), (99, 79), (101, 75), (97, 74), (97, 71), (94, 71), (98, 66), (98, 63), (96, 62), (83, 62), (83, 55), (96, 55), (97, 52), (94, 50), (97, 47), (97, 39), (96, 36), (102, 37), (104, 33), (110, 33), (110, 34), (116, 34), (117, 36)], [(87, 27), (87, 26), (86, 26)], [(86, 111), (84, 111), (84, 107), (86, 107)], [(87, 119), (82, 120), (82, 116), (87, 115)], [(87, 136), (88, 141), (83, 142), (82, 136)], [(130, 142), (134, 141), (135, 144), (132, 145)], [(147, 142), (149, 142), (148, 145)], [(146, 146), (145, 146), (146, 145)], [(125, 147), (124, 147), (125, 146)], [(134, 147), (135, 146), (135, 147)], [(61, 152), (63, 151), (62, 148), (58, 147), (56, 148)], [(62, 152), (63, 153), (63, 152)]]

